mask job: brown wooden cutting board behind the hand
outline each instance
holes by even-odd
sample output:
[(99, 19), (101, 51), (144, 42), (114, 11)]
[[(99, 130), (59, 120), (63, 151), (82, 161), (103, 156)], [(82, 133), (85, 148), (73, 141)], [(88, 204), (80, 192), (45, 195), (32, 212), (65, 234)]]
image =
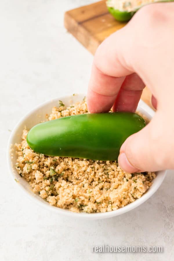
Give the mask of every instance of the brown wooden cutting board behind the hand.
[[(67, 11), (64, 16), (65, 28), (93, 55), (99, 44), (126, 23), (116, 21), (106, 8), (106, 1), (99, 1)], [(142, 100), (151, 108), (151, 92), (146, 87)]]

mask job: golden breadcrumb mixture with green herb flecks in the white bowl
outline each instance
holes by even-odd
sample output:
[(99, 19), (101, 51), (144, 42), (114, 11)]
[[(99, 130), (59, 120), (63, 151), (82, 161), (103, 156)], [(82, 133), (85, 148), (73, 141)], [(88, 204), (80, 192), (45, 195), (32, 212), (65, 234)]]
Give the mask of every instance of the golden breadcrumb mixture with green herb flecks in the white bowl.
[[(48, 120), (87, 113), (86, 99), (65, 108), (59, 101)], [(35, 153), (27, 144), (15, 144), (16, 169), (40, 197), (51, 205), (73, 212), (116, 210), (141, 197), (151, 186), (155, 173), (126, 173), (116, 161), (94, 161), (70, 157), (48, 157)]]

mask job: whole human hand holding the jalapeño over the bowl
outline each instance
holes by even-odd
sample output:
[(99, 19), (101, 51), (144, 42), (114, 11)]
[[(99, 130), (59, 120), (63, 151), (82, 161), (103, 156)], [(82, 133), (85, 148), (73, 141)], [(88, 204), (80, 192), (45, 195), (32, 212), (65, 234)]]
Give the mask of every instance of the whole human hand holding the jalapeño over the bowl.
[(135, 112), (145, 85), (157, 111), (120, 149), (124, 171), (174, 168), (174, 3), (141, 8), (97, 49), (87, 95), (91, 113)]

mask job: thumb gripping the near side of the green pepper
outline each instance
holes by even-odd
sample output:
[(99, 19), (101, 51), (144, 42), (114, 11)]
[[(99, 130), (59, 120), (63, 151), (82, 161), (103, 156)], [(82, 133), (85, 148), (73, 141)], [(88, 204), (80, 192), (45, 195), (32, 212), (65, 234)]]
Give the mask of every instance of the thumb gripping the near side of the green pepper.
[[(167, 145), (165, 124), (155, 114), (151, 122), (138, 133), (128, 137), (118, 157), (120, 167), (128, 172), (159, 171), (172, 167)], [(160, 125), (160, 126), (159, 126)], [(170, 136), (170, 134), (169, 134)]]

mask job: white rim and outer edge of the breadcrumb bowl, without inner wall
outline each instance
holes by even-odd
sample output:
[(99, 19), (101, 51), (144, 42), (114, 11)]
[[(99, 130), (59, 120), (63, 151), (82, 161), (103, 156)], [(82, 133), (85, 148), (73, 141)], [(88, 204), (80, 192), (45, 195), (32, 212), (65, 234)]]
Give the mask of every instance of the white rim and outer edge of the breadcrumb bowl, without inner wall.
[[(76, 96), (79, 97), (84, 97), (85, 95), (82, 93), (78, 93), (76, 94)], [(7, 145), (7, 164), (8, 164), (8, 170), (10, 173), (11, 178), (13, 179), (13, 182), (15, 182), (15, 170), (14, 170), (14, 166), (12, 164), (12, 160), (11, 160), (11, 154), (10, 154), (10, 149), (11, 149), (11, 145), (12, 145), (12, 139), (14, 137), (14, 134), (16, 133), (17, 129), (19, 128), (19, 126), (23, 123), (23, 121), (25, 121), (29, 116), (31, 116), (33, 113), (35, 113), (36, 111), (40, 110), (41, 108), (43, 108), (44, 106), (52, 103), (52, 102), (57, 102), (58, 100), (64, 100), (67, 98), (72, 97), (71, 95), (65, 95), (65, 96), (61, 96), (58, 98), (54, 98), (54, 99), (50, 99), (44, 103), (39, 104), (38, 106), (36, 106), (35, 108), (33, 108), (32, 110), (30, 110), (26, 115), (24, 115), (19, 122), (17, 122), (17, 124), (15, 125), (15, 127), (13, 128), (11, 135), (9, 137), (8, 140), (8, 145)], [(140, 109), (143, 110), (146, 114), (149, 115), (149, 117), (152, 117), (152, 114), (154, 114), (154, 111), (141, 100), (141, 104), (143, 105), (143, 108), (141, 108), (140, 105)], [(148, 109), (150, 111), (150, 114), (146, 111), (146, 109)], [(67, 209), (61, 209), (59, 207), (56, 206), (52, 206), (50, 205), (48, 202), (45, 202), (43, 199), (38, 200), (36, 197), (36, 194), (34, 192), (29, 193), (26, 188), (20, 183), (20, 182), (15, 182), (15, 184), (19, 185), (20, 189), (24, 192), (24, 194), (32, 201), (35, 202), (36, 204), (39, 204), (40, 206), (44, 207), (45, 209), (47, 209), (48, 211), (53, 211), (54, 213), (60, 214), (60, 215), (66, 215), (69, 217), (74, 217), (74, 218), (82, 218), (82, 219), (87, 219), (87, 220), (97, 220), (97, 219), (104, 219), (104, 218), (111, 218), (117, 215), (122, 215), (128, 211), (131, 211), (133, 209), (135, 209), (137, 206), (141, 205), (142, 203), (144, 203), (146, 200), (148, 200), (156, 191), (157, 189), (160, 187), (160, 185), (162, 184), (162, 182), (164, 181), (164, 178), (166, 176), (166, 172), (167, 170), (164, 171), (158, 171), (158, 175), (160, 175), (160, 180), (158, 180), (157, 184), (153, 184), (153, 188), (151, 190), (147, 190), (142, 197), (140, 197), (139, 199), (136, 199), (134, 202), (119, 208), (117, 210), (113, 210), (113, 211), (108, 211), (108, 212), (104, 212), (104, 213), (76, 213), (73, 211), (69, 211)], [(19, 174), (18, 174), (19, 175)], [(32, 190), (32, 189), (31, 189)]]

